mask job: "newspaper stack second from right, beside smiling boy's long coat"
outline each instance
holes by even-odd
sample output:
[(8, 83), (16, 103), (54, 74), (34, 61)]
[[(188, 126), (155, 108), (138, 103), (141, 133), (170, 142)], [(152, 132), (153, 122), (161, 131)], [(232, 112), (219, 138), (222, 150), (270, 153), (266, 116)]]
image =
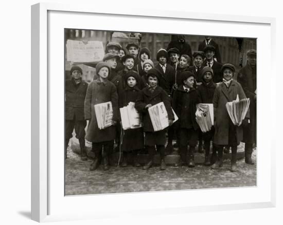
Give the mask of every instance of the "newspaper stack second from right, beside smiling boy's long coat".
[(214, 122), (213, 104), (197, 104), (196, 121), (203, 133), (211, 130)]

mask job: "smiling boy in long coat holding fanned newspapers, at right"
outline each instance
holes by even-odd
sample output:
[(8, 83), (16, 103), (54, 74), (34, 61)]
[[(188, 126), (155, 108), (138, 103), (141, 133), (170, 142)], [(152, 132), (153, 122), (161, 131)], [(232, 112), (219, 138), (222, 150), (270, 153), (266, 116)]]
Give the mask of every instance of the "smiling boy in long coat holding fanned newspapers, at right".
[(250, 117), (249, 110), (247, 111), (246, 117), (242, 122), (242, 125), (234, 125), (231, 118), (228, 115), (226, 109), (226, 103), (236, 100), (237, 95), (239, 99), (245, 99), (245, 93), (242, 86), (233, 80), (235, 74), (235, 66), (226, 63), (222, 66), (221, 72), (223, 74), (223, 81), (219, 84), (214, 92), (213, 106), (214, 106), (214, 127), (215, 134), (213, 138), (214, 144), (217, 146), (217, 160), (211, 166), (213, 169), (218, 169), (222, 166), (223, 161), (223, 147), (229, 145), (232, 148), (231, 168), (232, 172), (237, 170), (237, 146), (242, 141), (243, 130), (242, 126), (247, 125), (248, 118)]

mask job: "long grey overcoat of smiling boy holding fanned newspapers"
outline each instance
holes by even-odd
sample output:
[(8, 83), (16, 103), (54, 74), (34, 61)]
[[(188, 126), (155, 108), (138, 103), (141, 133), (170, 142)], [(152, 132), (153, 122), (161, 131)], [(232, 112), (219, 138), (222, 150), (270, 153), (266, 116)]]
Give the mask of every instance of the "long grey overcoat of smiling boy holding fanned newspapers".
[[(217, 85), (214, 97), (213, 97), (213, 106), (214, 106), (214, 118), (215, 118), (215, 134), (214, 134), (214, 143), (218, 145), (227, 145), (228, 144), (228, 130), (229, 130), (229, 115), (226, 109), (226, 103), (236, 100), (237, 95), (239, 99), (245, 99), (245, 93), (241, 85), (236, 81), (231, 81), (229, 89), (224, 83)], [(246, 118), (250, 117), (249, 111), (247, 111)], [(243, 139), (243, 130), (242, 125), (236, 126), (236, 139), (237, 144), (240, 143)]]

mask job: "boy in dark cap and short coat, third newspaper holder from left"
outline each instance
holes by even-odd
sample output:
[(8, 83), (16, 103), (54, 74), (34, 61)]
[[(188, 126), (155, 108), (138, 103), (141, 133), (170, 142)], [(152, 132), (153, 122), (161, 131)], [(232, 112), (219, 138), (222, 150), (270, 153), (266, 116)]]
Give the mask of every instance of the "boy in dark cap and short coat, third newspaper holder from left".
[(170, 100), (167, 93), (158, 86), (160, 82), (160, 72), (155, 68), (148, 71), (148, 87), (145, 87), (139, 92), (137, 97), (135, 108), (143, 118), (144, 132), (145, 132), (145, 145), (149, 152), (149, 161), (143, 167), (144, 170), (148, 170), (153, 164), (153, 158), (155, 155), (155, 146), (157, 151), (160, 152), (161, 165), (160, 169), (165, 170), (165, 143), (166, 143), (166, 129), (154, 132), (152, 122), (148, 113), (148, 108), (160, 102), (164, 102), (165, 108), (168, 113), (169, 125), (172, 125), (174, 115), (171, 109)]

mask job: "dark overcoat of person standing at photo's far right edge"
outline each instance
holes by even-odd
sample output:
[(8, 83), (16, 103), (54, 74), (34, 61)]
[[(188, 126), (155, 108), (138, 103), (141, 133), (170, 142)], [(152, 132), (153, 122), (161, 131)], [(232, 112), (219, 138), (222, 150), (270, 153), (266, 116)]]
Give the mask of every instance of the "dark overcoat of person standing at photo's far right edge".
[(247, 98), (250, 98), (250, 120), (249, 126), (244, 128), (243, 141), (245, 143), (255, 143), (256, 140), (256, 68), (254, 72), (248, 64), (238, 73), (238, 82), (242, 85)]

